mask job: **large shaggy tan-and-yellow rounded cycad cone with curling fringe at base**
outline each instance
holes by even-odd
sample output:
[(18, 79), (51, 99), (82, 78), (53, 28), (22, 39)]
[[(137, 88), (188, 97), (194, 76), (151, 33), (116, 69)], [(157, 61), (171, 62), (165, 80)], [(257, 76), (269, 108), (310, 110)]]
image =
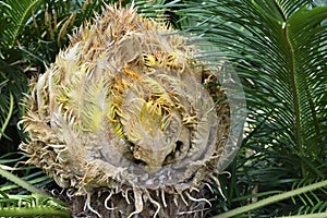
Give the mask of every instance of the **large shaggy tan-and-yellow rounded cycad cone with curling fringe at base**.
[(107, 7), (34, 84), (27, 164), (69, 189), (72, 204), (85, 196), (85, 213), (203, 216), (229, 106), (186, 43), (134, 9)]

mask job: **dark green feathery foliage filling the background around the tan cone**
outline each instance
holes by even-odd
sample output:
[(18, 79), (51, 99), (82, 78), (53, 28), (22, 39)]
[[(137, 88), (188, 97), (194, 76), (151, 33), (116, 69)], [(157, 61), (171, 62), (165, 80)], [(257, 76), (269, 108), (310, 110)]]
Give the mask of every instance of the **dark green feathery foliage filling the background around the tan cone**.
[[(28, 80), (45, 72), (68, 45), (68, 35), (93, 17), (94, 11), (101, 13), (101, 4), (0, 1), (0, 164), (21, 167), (13, 173), (44, 190), (56, 184), (40, 170), (20, 164), (24, 157), (16, 147), (25, 140), (16, 125), (24, 113), (20, 102), (28, 93)], [(135, 4), (145, 16), (165, 19), (185, 34), (210, 41), (231, 62), (244, 85), (249, 109), (245, 137), (227, 169), (231, 177), (219, 177), (226, 201), (215, 205), (213, 215), (326, 181), (326, 2), (175, 0)], [(208, 59), (215, 48), (207, 52)], [(13, 187), (1, 179), (3, 201), (12, 203), (8, 193), (26, 194)], [(323, 215), (327, 213), (326, 193), (325, 185), (258, 205), (240, 216)]]

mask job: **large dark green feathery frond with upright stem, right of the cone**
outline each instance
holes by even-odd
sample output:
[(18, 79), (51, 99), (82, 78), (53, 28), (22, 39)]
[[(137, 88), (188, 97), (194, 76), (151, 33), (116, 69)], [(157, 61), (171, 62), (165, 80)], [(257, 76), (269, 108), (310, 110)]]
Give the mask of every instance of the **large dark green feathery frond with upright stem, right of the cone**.
[(323, 175), (313, 166), (326, 158), (327, 106), (322, 96), (327, 33), (322, 23), (327, 8), (307, 3), (207, 1), (201, 12), (195, 13), (198, 4), (183, 12), (197, 21), (192, 32), (201, 32), (238, 62), (255, 121), (250, 128), (266, 121), (258, 135), (252, 135), (252, 144), (284, 149), (296, 159), (299, 177)]

